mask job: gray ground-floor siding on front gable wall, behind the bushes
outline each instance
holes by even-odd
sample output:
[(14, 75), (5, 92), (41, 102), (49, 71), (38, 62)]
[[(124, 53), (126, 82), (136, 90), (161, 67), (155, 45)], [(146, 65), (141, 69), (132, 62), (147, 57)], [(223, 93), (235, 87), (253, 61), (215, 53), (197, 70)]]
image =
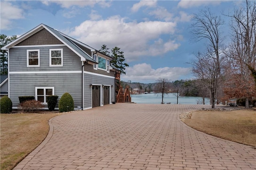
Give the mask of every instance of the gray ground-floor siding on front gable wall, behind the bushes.
[[(10, 99), (18, 107), (18, 96), (35, 96), (35, 87), (54, 87), (54, 95), (68, 92), (76, 106), (82, 106), (82, 73), (77, 74), (10, 74)], [(58, 107), (58, 104), (56, 105)]]

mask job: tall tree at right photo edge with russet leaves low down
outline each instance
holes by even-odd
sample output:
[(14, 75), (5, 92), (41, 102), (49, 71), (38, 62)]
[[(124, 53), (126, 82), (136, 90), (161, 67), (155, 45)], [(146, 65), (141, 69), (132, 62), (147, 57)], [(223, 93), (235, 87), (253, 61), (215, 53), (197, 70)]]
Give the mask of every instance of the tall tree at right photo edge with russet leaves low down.
[(246, 98), (249, 107), (249, 98), (256, 96), (256, 1), (246, 0), (245, 6), (226, 16), (232, 18), (232, 43), (225, 53), (230, 65), (225, 91), (230, 97)]

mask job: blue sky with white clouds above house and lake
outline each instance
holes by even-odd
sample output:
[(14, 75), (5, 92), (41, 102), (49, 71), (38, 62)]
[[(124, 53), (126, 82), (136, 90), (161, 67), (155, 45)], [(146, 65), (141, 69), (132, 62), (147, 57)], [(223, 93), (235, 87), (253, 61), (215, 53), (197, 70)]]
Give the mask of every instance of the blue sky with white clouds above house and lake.
[(205, 42), (193, 43), (191, 16), (210, 8), (220, 15), (228, 43), (229, 18), (242, 1), (209, 0), (62, 0), (0, 1), (0, 31), (22, 35), (40, 23), (58, 29), (83, 43), (100, 49), (124, 51), (126, 75), (122, 80), (156, 82), (193, 78), (189, 62), (193, 53), (204, 51)]

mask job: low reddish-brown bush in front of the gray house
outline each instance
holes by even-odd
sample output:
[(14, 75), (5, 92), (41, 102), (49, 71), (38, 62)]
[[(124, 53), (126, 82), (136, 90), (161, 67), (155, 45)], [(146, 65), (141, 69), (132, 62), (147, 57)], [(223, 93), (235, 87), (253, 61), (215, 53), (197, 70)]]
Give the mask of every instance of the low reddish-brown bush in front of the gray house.
[(41, 104), (41, 102), (36, 101), (36, 100), (28, 100), (26, 102), (22, 102), (18, 109), (24, 111), (24, 112), (33, 112), (33, 111), (38, 111), (42, 109), (44, 105)]

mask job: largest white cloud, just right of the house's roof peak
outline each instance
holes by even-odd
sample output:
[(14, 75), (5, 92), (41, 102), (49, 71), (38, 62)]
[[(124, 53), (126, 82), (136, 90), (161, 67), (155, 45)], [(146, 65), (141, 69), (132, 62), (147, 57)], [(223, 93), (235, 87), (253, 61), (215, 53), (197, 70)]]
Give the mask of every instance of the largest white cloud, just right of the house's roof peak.
[(100, 49), (102, 44), (108, 48), (120, 47), (127, 62), (139, 56), (157, 56), (174, 51), (180, 44), (172, 39), (163, 40), (161, 35), (175, 33), (176, 23), (162, 21), (125, 22), (126, 18), (112, 16), (107, 20), (87, 20), (67, 33), (76, 39)]

